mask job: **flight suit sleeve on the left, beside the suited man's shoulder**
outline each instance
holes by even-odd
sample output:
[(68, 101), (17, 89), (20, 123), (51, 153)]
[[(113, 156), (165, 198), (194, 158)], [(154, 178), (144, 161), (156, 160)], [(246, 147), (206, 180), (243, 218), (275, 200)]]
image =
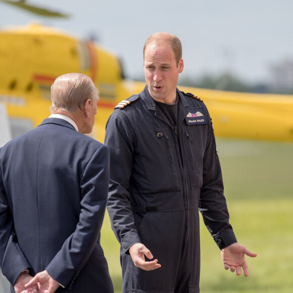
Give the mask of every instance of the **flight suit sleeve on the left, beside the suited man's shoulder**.
[(114, 111), (106, 125), (105, 144), (111, 152), (107, 209), (121, 249), (128, 253), (129, 248), (139, 243), (140, 239), (134, 226), (129, 193), (134, 137), (132, 127), (123, 114), (121, 110)]

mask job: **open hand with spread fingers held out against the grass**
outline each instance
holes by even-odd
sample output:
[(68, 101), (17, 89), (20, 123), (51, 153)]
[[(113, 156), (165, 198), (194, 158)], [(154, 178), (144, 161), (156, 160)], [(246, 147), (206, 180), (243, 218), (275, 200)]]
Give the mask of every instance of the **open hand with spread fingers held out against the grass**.
[(241, 267), (243, 269), (244, 275), (247, 277), (249, 275), (248, 264), (245, 260), (245, 255), (255, 258), (256, 253), (252, 253), (245, 246), (239, 243), (233, 243), (232, 245), (221, 250), (221, 256), (224, 263), (225, 270), (230, 268), (231, 272), (236, 271), (236, 275), (241, 275)]

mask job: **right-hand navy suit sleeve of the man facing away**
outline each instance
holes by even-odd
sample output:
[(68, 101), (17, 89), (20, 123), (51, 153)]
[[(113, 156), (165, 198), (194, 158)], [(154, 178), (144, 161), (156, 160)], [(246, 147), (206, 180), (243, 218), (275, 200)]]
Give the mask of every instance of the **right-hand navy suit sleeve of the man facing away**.
[(46, 267), (48, 274), (65, 287), (72, 287), (98, 241), (107, 204), (109, 161), (109, 149), (101, 145), (87, 163), (80, 180), (79, 222)]

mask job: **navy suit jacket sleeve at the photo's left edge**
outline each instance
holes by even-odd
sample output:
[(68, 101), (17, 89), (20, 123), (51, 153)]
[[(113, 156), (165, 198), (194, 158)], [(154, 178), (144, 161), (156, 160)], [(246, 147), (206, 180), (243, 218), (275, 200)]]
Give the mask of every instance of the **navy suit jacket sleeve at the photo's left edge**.
[(11, 284), (25, 269), (31, 269), (21, 251), (14, 232), (12, 214), (7, 200), (0, 167), (0, 264), (2, 273)]

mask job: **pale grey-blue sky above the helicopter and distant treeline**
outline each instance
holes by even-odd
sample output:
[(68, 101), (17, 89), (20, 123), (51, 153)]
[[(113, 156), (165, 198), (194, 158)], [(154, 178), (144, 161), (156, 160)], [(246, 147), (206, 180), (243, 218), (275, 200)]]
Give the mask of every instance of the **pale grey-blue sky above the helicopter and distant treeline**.
[(97, 41), (122, 60), (129, 78), (143, 76), (142, 48), (152, 33), (177, 35), (181, 76), (229, 70), (250, 83), (269, 82), (269, 69), (293, 60), (292, 0), (27, 0), (71, 15), (44, 18), (0, 2), (0, 26), (38, 21)]

